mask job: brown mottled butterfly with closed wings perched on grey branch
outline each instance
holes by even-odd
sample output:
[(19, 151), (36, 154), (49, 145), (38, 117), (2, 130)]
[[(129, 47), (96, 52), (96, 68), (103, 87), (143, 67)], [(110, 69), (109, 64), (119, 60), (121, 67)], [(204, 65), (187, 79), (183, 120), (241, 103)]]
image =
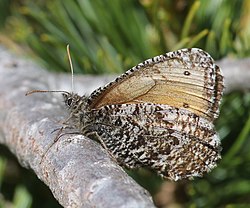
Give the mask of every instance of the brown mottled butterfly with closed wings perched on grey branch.
[(213, 121), (223, 88), (211, 56), (191, 48), (148, 59), (90, 96), (63, 97), (79, 131), (120, 165), (177, 181), (202, 176), (221, 158)]

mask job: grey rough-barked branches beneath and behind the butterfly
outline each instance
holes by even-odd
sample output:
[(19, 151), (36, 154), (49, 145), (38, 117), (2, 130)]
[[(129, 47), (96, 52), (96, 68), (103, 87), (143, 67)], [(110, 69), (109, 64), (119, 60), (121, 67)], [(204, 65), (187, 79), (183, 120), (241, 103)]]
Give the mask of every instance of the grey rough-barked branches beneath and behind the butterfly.
[[(217, 64), (227, 93), (250, 89), (250, 59)], [(89, 94), (112, 79), (77, 76), (75, 91)], [(32, 89), (70, 91), (70, 86), (70, 75), (49, 73), (0, 47), (0, 143), (33, 169), (64, 207), (154, 207), (148, 192), (95, 141), (65, 135), (55, 142), (54, 130), (68, 116), (60, 94), (25, 96)]]

